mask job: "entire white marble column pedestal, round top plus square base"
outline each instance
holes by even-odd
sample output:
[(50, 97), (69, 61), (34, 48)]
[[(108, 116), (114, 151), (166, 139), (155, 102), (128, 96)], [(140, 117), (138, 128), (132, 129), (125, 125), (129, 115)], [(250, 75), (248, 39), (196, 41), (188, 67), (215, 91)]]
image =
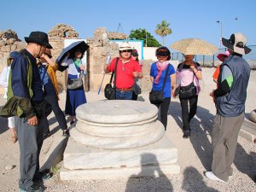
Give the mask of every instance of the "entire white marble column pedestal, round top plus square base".
[(100, 101), (79, 106), (64, 152), (61, 180), (179, 173), (177, 148), (148, 102)]

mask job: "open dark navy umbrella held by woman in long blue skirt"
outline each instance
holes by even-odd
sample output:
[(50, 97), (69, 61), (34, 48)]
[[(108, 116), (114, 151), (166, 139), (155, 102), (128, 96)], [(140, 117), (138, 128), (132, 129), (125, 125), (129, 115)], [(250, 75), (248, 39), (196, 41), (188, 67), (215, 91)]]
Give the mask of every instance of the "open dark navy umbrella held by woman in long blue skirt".
[(82, 53), (89, 48), (88, 44), (85, 44), (84, 41), (77, 41), (74, 42), (73, 44), (70, 44), (67, 46), (67, 48), (62, 49), (61, 54), (57, 57), (56, 62), (59, 64), (58, 70), (63, 72), (67, 67), (62, 67), (61, 66), (61, 61), (65, 58), (67, 55), (67, 52), (70, 53), (70, 55), (73, 55), (73, 52), (76, 51), (77, 49), (80, 49)]

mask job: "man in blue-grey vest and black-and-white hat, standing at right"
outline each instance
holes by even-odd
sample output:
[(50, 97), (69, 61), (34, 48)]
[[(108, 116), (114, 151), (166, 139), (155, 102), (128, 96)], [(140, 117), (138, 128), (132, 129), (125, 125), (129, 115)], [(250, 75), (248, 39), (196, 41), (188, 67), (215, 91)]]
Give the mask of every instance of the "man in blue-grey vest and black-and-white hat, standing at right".
[(232, 34), (230, 39), (222, 38), (222, 42), (230, 55), (220, 66), (218, 88), (210, 94), (216, 102), (217, 114), (212, 128), (212, 172), (206, 172), (206, 177), (227, 182), (233, 174), (231, 165), (244, 120), (250, 77), (250, 67), (242, 55), (251, 49), (246, 46), (247, 38), (241, 33)]

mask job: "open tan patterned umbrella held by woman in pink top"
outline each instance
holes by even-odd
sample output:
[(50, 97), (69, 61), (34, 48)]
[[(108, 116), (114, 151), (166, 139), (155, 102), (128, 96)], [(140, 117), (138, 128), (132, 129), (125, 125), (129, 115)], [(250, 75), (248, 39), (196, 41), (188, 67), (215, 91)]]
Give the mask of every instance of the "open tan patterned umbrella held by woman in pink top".
[(199, 38), (183, 38), (171, 45), (172, 49), (182, 52), (184, 55), (213, 55), (218, 48)]

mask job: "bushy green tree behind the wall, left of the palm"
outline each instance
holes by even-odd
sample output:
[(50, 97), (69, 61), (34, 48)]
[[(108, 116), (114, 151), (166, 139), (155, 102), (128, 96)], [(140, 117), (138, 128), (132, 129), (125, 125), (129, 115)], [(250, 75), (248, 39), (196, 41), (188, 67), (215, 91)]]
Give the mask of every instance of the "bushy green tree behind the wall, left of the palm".
[(136, 29), (131, 30), (131, 33), (129, 35), (130, 39), (138, 39), (143, 40), (143, 46), (147, 47), (160, 47), (161, 44), (151, 35), (150, 32), (147, 32), (146, 29)]

